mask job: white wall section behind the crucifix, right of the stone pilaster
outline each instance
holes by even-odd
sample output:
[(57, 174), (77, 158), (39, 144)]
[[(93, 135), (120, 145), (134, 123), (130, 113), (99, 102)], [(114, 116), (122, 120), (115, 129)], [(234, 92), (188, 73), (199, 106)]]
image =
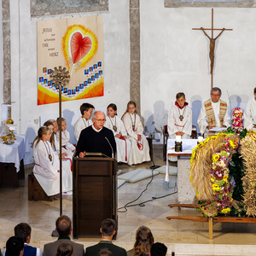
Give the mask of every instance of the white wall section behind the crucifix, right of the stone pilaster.
[[(209, 39), (192, 28), (211, 27), (212, 9), (170, 9), (164, 7), (164, 0), (140, 3), (141, 109), (145, 124), (151, 132), (160, 127), (179, 91), (194, 108), (195, 124), (201, 102), (209, 97), (211, 75)], [(215, 8), (214, 27), (233, 29), (218, 38), (213, 86), (223, 90), (222, 98), (227, 102), (229, 91), (234, 108), (237, 102), (239, 106), (239, 102), (251, 99), (256, 86), (256, 9)]]

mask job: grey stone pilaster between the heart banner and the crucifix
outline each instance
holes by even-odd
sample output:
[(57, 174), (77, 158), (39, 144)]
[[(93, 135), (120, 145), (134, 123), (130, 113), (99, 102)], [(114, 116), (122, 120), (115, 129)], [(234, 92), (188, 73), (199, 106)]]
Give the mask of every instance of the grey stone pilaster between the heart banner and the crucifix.
[(130, 0), (130, 99), (141, 112), (140, 93), (140, 1)]

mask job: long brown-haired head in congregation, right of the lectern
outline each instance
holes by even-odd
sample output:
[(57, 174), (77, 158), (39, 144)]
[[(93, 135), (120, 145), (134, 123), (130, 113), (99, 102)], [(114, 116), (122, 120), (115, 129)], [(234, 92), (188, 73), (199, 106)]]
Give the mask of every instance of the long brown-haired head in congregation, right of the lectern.
[(136, 232), (136, 241), (133, 246), (134, 255), (149, 253), (151, 246), (154, 244), (154, 236), (151, 230), (146, 226), (141, 226)]

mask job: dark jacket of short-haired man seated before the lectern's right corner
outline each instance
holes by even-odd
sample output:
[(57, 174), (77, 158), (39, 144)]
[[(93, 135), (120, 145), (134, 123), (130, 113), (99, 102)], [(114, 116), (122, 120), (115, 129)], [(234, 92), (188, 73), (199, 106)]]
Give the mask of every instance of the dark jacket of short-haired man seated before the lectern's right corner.
[(122, 247), (118, 247), (112, 241), (102, 240), (98, 244), (87, 247), (85, 249), (85, 256), (97, 256), (101, 249), (108, 248), (108, 251), (113, 253), (113, 256), (127, 256), (126, 251)]

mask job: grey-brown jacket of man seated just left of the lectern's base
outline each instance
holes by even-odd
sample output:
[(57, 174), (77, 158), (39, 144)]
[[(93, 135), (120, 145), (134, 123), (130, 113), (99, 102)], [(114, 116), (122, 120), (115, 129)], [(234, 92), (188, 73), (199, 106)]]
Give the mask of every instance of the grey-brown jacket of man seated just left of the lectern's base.
[(84, 256), (84, 245), (71, 241), (69, 237), (59, 237), (57, 241), (49, 242), (44, 245), (44, 256), (55, 256), (57, 248), (61, 243), (71, 243), (73, 246), (74, 256)]

